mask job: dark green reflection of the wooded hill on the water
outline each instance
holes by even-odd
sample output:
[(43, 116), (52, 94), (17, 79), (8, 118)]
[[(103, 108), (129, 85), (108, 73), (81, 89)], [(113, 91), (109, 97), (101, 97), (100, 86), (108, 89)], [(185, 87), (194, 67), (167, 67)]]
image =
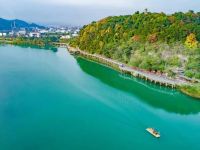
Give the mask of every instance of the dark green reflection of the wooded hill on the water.
[(200, 112), (200, 101), (188, 97), (177, 90), (124, 76), (112, 69), (83, 58), (76, 58), (76, 60), (85, 73), (111, 87), (133, 94), (139, 100), (154, 108), (182, 115)]

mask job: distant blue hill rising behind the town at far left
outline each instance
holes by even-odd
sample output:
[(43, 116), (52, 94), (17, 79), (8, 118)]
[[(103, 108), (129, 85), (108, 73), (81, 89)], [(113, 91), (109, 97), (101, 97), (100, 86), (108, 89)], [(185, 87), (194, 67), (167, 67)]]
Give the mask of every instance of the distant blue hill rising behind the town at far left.
[(40, 28), (44, 29), (44, 26), (37, 25), (35, 23), (27, 23), (23, 20), (7, 20), (0, 18), (0, 31), (11, 31), (12, 29), (20, 29), (20, 28)]

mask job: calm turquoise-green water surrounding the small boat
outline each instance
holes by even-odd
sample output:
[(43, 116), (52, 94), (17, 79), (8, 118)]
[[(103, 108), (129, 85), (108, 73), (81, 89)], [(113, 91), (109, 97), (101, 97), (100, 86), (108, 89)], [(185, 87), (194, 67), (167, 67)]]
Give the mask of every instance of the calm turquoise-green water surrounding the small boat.
[(0, 150), (199, 150), (199, 139), (197, 99), (64, 48), (0, 46)]

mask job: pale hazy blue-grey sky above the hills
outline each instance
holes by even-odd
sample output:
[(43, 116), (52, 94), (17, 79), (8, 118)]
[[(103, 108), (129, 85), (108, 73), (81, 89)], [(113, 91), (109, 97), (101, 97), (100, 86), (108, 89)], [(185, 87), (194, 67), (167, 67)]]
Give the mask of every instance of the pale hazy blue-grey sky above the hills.
[(110, 15), (200, 11), (200, 0), (0, 0), (0, 17), (48, 25), (83, 25)]

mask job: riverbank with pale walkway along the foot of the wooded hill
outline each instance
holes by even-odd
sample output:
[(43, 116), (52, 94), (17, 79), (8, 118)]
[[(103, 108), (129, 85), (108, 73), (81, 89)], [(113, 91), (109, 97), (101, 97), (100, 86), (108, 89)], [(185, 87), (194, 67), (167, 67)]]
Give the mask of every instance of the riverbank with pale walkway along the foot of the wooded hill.
[(120, 63), (118, 61), (105, 58), (97, 54), (90, 54), (88, 52), (80, 50), (79, 48), (70, 47), (69, 45), (67, 46), (67, 48), (68, 48), (68, 51), (72, 54), (80, 55), (87, 59), (108, 65), (117, 71), (127, 73), (134, 77), (142, 78), (144, 80), (148, 80), (150, 82), (159, 84), (161, 86), (177, 88), (186, 95), (189, 95), (191, 97), (198, 98), (198, 99), (200, 98), (200, 93), (195, 92), (196, 90), (194, 90), (196, 88), (194, 87), (193, 90), (189, 90), (191, 89), (191, 87), (193, 87), (193, 85), (190, 82), (185, 81), (181, 78), (170, 78), (165, 75), (157, 75), (157, 74), (149, 73), (144, 70), (138, 70), (136, 68), (129, 67), (126, 64)]

